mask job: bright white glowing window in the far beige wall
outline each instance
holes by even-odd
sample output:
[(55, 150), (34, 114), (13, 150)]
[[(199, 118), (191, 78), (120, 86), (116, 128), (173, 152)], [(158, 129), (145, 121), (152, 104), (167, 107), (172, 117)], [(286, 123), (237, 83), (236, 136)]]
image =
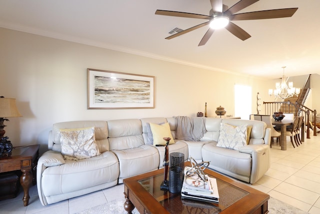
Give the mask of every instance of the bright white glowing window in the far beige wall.
[(248, 120), (252, 114), (251, 86), (234, 85), (234, 116)]

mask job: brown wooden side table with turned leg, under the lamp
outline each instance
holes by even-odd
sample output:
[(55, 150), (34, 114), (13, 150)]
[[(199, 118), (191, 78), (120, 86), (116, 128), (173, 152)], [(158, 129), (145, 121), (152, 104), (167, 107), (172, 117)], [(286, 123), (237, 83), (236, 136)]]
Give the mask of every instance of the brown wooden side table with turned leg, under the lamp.
[(21, 170), (20, 183), (23, 188), (23, 205), (29, 202), (29, 188), (31, 183), (35, 185), (35, 166), (39, 157), (40, 145), (30, 145), (14, 148), (9, 157), (0, 157), (0, 173), (7, 171)]

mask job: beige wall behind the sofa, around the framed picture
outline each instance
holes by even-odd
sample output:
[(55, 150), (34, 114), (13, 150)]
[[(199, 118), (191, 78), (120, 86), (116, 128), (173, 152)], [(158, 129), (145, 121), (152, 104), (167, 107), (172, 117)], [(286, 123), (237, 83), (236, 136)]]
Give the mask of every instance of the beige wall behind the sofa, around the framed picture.
[[(155, 108), (87, 109), (87, 68), (155, 76)], [(234, 84), (252, 86), (252, 113), (256, 113), (256, 93), (262, 101), (269, 99), (272, 82), (3, 28), (0, 74), (0, 96), (16, 98), (23, 115), (5, 122), (6, 135), (14, 146), (41, 144), (42, 149), (52, 124), (61, 121), (195, 116), (204, 112), (205, 102), (208, 116), (216, 116), (219, 105), (234, 115)]]

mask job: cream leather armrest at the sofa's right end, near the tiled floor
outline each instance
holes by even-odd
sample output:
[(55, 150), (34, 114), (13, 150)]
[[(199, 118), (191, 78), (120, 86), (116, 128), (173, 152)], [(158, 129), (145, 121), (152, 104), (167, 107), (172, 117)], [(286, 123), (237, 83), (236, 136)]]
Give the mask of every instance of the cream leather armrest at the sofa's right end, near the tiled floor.
[(255, 183), (270, 168), (270, 147), (268, 144), (246, 145), (239, 152), (251, 154), (250, 183)]

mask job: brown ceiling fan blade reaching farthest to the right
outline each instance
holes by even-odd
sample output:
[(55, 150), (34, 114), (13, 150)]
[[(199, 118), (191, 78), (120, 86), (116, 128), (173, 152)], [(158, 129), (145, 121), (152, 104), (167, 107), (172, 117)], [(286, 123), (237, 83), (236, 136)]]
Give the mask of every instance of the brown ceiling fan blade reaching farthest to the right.
[(276, 9), (268, 11), (255, 11), (243, 14), (234, 14), (229, 16), (229, 20), (262, 20), (262, 19), (275, 19), (292, 17), (292, 15), (298, 10), (297, 8)]

